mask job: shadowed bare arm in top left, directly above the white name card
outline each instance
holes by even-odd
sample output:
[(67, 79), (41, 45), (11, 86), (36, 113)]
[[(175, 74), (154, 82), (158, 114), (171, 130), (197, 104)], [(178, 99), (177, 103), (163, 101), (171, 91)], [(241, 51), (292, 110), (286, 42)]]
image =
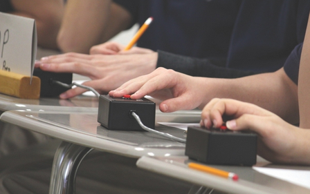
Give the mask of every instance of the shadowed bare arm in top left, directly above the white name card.
[(35, 19), (37, 25), (37, 43), (43, 48), (57, 49), (57, 33), (64, 12), (63, 0), (11, 0), (17, 14)]

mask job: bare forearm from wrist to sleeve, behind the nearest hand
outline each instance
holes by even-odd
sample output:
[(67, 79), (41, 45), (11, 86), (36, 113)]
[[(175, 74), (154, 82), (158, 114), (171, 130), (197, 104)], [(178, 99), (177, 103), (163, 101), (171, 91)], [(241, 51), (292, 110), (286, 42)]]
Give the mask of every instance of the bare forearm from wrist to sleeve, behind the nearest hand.
[(213, 82), (213, 91), (206, 92), (203, 104), (213, 97), (232, 98), (261, 106), (287, 122), (298, 122), (297, 86), (283, 69), (238, 79), (213, 79)]

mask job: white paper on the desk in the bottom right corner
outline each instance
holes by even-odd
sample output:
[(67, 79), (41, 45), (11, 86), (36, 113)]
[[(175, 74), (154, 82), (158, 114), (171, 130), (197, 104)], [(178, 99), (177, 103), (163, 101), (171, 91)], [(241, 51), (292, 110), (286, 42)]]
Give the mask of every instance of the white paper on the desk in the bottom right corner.
[(310, 189), (310, 171), (253, 167), (255, 171)]

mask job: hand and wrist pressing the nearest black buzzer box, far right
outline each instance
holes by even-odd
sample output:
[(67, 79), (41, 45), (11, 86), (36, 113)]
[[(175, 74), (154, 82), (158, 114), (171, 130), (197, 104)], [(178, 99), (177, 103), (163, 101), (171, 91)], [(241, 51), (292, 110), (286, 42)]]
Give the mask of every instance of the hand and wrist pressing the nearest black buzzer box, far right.
[[(259, 106), (233, 99), (212, 99), (201, 113), (201, 126), (219, 127), (228, 118), (230, 130), (253, 130), (258, 134), (257, 153), (270, 162), (309, 164), (310, 132), (284, 122)], [(230, 120), (229, 120), (230, 119)], [(307, 153), (309, 155), (309, 153)]]

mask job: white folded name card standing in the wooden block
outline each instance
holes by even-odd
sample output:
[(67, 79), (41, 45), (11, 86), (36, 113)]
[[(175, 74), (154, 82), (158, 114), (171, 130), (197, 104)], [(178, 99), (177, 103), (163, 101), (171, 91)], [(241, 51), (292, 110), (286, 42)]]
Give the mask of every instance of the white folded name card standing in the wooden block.
[(36, 55), (35, 20), (0, 12), (1, 70), (32, 77)]

